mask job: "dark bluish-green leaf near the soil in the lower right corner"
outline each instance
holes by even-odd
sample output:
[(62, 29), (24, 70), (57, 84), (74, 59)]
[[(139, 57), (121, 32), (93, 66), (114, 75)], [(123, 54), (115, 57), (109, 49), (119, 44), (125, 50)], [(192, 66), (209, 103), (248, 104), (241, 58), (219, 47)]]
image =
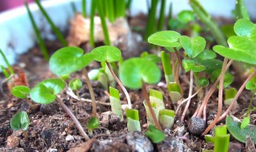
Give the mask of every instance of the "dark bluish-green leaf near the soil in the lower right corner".
[(229, 130), (230, 134), (237, 139), (239, 142), (246, 143), (246, 137), (250, 136), (250, 138), (256, 144), (256, 129), (255, 126), (246, 126), (243, 130), (241, 130), (241, 122), (234, 121), (230, 116), (226, 116), (226, 126)]

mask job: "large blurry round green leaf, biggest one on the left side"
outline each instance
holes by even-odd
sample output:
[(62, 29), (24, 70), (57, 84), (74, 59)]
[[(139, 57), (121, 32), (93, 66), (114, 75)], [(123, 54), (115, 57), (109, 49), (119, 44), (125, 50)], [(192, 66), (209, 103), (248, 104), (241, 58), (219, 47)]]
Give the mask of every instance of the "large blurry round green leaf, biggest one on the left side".
[(94, 60), (93, 54), (84, 54), (79, 47), (67, 46), (57, 50), (50, 57), (50, 70), (59, 76), (81, 70)]

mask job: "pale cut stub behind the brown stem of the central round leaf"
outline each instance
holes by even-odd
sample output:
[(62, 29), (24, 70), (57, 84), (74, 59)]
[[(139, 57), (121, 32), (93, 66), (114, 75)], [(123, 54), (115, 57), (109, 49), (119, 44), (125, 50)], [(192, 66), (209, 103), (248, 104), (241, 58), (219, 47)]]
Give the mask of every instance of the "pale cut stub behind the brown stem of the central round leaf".
[[(158, 90), (153, 90), (150, 89), (150, 104), (152, 106), (152, 109), (154, 110), (154, 114), (156, 115), (156, 118), (158, 119), (158, 112), (159, 110), (162, 110), (165, 108), (165, 104), (163, 102), (163, 97), (162, 97), (162, 92), (158, 91)], [(146, 104), (146, 102), (143, 102), (143, 105), (145, 106), (145, 110), (146, 110), (146, 119), (147, 119), (147, 124), (148, 125), (154, 125), (154, 119), (152, 117), (152, 115), (150, 114), (150, 108), (149, 106)]]

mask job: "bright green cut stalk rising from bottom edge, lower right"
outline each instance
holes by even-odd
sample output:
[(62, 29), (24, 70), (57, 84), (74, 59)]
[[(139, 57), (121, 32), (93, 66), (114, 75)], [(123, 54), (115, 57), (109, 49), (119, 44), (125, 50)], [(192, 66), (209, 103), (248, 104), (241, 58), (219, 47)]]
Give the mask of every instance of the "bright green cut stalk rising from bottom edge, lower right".
[(226, 125), (216, 126), (214, 129), (214, 137), (206, 135), (206, 142), (214, 143), (214, 152), (227, 152), (230, 144), (230, 134), (227, 134)]

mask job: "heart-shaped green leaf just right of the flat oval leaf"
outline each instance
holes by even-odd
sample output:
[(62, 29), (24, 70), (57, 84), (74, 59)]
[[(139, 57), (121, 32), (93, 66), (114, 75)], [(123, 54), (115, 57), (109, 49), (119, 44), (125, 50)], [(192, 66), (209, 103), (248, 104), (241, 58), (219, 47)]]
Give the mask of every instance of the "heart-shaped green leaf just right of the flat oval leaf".
[(190, 58), (195, 58), (198, 56), (198, 54), (205, 50), (206, 47), (206, 39), (199, 36), (194, 38), (182, 36), (179, 38), (179, 42)]

